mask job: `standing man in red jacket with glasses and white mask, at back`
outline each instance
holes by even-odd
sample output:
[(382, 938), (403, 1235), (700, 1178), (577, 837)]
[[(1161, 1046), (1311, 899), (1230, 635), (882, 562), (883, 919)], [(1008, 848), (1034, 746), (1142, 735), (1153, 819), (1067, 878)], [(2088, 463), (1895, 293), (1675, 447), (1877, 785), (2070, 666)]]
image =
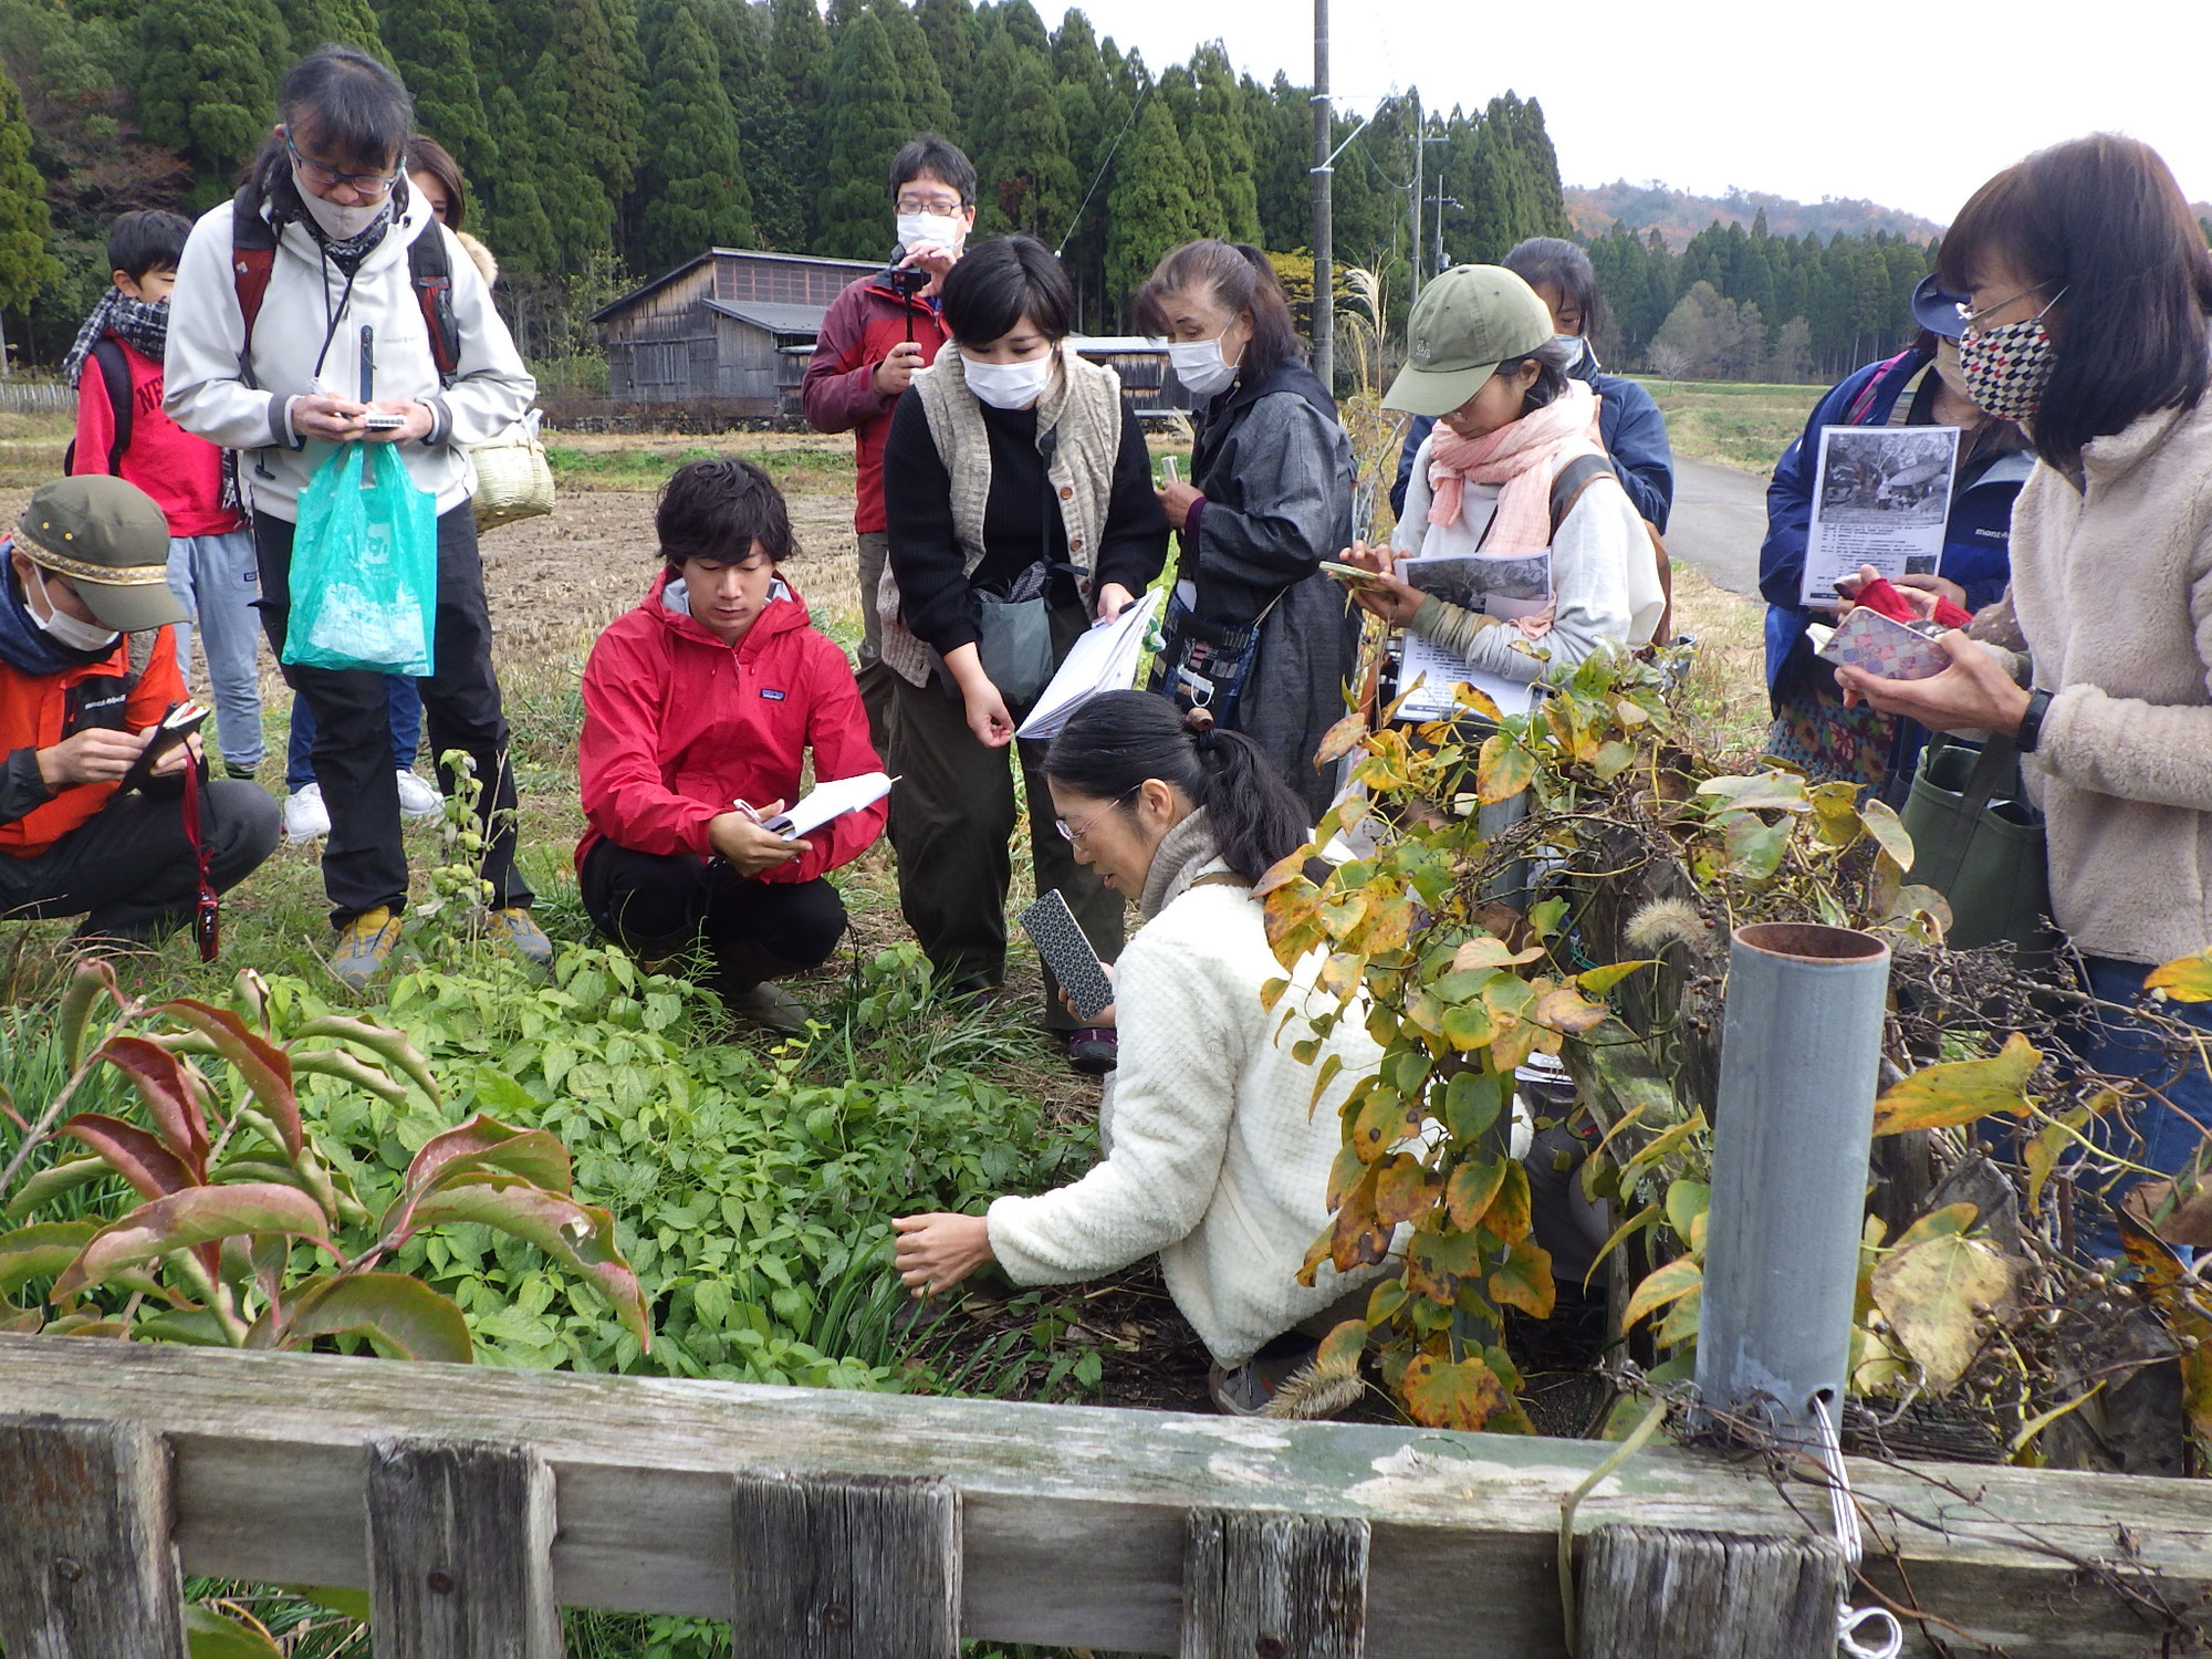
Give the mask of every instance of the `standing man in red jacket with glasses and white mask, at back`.
[(867, 703), (867, 730), (878, 750), (887, 743), (885, 721), (891, 714), (891, 670), (878, 659), (883, 617), (876, 615), (876, 586), (891, 546), (883, 518), (883, 440), (916, 369), (929, 367), (945, 345), (938, 288), (975, 228), (975, 168), (958, 146), (925, 133), (891, 159), (891, 206), (898, 212), (891, 268), (849, 283), (836, 296), (799, 387), (810, 427), (854, 434), (860, 701)]

